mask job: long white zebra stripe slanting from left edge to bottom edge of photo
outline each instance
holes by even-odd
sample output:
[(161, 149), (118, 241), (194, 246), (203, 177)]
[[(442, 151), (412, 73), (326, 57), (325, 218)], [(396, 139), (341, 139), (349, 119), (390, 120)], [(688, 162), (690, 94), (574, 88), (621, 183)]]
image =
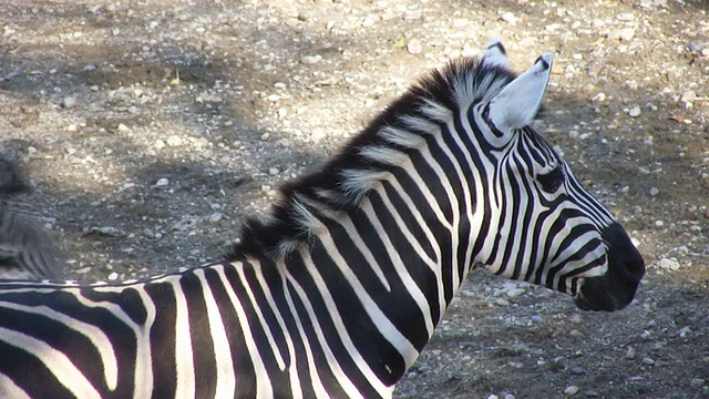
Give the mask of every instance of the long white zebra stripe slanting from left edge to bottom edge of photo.
[[(37, 338), (3, 327), (0, 327), (0, 339), (40, 359), (50, 372), (56, 377), (59, 383), (64, 386), (74, 397), (82, 399), (101, 398), (101, 395), (91, 382), (86, 380), (84, 375), (76, 369), (63, 352)], [(31, 372), (31, 370), (27, 371)]]

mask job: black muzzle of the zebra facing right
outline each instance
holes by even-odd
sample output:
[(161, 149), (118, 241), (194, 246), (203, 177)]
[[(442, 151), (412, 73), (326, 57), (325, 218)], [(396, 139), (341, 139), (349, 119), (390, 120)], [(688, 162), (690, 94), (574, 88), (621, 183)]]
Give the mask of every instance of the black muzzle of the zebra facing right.
[(583, 310), (620, 310), (628, 306), (645, 275), (645, 262), (625, 229), (618, 224), (606, 227), (603, 238), (608, 243), (608, 269), (598, 277), (585, 278), (575, 297)]

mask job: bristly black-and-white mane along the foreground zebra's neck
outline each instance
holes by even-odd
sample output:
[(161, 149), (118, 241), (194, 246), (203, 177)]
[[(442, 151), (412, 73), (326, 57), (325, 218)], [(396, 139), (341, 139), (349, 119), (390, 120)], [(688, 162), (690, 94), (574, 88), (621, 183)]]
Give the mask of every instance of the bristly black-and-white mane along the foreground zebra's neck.
[(408, 153), (427, 145), (473, 102), (490, 101), (516, 78), (511, 70), (466, 58), (433, 70), (391, 103), (363, 131), (317, 170), (280, 187), (280, 198), (264, 219), (248, 218), (225, 260), (259, 256), (280, 259), (307, 244), (322, 227), (358, 208), (362, 198), (401, 166)]

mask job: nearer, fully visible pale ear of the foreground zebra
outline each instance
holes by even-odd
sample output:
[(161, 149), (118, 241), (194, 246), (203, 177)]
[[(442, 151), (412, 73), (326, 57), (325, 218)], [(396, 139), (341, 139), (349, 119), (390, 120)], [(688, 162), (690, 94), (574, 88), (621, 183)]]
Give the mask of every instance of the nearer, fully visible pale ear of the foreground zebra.
[(492, 99), (487, 117), (495, 127), (505, 132), (532, 123), (542, 106), (551, 71), (552, 53), (545, 53)]

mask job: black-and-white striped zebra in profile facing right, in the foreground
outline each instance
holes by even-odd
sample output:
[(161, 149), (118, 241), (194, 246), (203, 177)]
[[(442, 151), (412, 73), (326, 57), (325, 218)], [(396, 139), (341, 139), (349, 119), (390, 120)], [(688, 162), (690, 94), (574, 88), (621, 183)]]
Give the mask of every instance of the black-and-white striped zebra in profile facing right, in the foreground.
[(0, 397), (390, 398), (472, 268), (626, 307), (640, 254), (532, 126), (552, 59), (430, 72), (219, 262), (2, 282)]

